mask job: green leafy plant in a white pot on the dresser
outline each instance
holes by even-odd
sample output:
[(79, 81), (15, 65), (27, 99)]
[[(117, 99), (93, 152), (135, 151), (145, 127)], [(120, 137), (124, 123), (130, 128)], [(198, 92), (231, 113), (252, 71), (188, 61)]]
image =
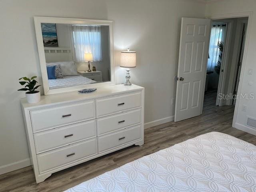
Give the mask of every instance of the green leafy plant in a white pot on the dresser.
[(36, 76), (33, 76), (32, 78), (27, 78), (27, 77), (22, 77), (22, 78), (19, 78), (19, 80), (24, 80), (24, 81), (20, 81), (19, 83), (21, 85), (25, 85), (25, 88), (22, 88), (22, 89), (19, 89), (18, 91), (28, 91), (26, 92), (26, 98), (27, 98), (27, 101), (28, 103), (37, 103), (40, 101), (40, 92), (37, 91), (36, 89), (41, 86), (41, 85), (38, 85), (36, 86), (36, 83), (38, 83), (36, 80), (35, 80)]

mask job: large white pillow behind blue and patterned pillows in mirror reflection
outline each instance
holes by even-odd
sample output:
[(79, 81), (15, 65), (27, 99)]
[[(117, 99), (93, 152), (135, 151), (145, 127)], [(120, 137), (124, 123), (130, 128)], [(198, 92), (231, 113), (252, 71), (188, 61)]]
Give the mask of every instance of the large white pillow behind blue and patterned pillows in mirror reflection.
[(52, 62), (46, 63), (46, 65), (60, 65), (63, 76), (78, 75), (74, 61)]

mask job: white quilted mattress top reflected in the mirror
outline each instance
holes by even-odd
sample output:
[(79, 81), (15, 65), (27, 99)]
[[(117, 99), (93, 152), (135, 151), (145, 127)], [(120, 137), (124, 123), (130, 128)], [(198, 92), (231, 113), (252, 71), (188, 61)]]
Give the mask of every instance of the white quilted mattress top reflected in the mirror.
[(59, 78), (59, 79), (48, 79), (48, 84), (50, 89), (84, 85), (84, 84), (95, 83), (95, 82), (96, 81), (80, 75), (64, 76), (63, 78)]

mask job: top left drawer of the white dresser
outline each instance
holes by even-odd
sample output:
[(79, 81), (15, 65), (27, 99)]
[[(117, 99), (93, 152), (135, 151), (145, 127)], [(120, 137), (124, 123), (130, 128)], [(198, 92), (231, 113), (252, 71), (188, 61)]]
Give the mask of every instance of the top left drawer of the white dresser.
[(33, 132), (95, 118), (94, 101), (46, 108), (30, 112)]

